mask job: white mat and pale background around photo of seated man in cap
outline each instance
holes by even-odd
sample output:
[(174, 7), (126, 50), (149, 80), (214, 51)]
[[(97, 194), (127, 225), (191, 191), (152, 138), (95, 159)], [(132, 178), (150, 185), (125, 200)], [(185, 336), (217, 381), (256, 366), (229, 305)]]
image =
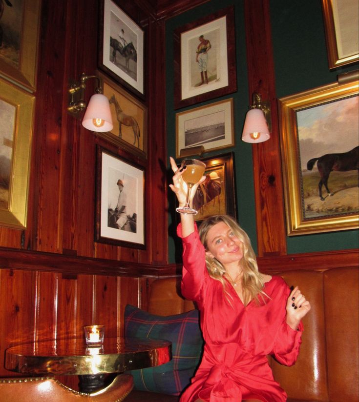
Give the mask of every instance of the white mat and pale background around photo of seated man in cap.
[[(124, 182), (127, 194), (127, 215), (136, 213), (136, 233), (107, 226), (108, 208), (117, 205), (117, 181)], [(144, 244), (144, 172), (103, 152), (101, 173), (101, 237)]]

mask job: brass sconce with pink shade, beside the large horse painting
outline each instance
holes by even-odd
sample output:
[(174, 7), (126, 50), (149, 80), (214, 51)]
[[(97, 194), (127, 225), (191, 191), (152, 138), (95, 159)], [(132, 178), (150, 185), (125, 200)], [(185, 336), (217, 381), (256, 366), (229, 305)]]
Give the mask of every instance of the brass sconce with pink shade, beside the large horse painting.
[(261, 96), (254, 92), (249, 109), (244, 122), (242, 141), (254, 143), (269, 140), (272, 131), (269, 102), (263, 102)]

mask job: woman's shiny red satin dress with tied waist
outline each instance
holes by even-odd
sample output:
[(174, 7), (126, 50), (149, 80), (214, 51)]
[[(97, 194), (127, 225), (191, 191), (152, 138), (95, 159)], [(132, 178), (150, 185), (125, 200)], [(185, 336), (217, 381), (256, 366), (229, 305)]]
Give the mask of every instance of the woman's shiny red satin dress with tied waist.
[[(181, 225), (177, 228), (181, 236)], [(290, 289), (280, 277), (265, 283), (270, 297), (259, 305), (252, 300), (244, 306), (227, 281), (212, 279), (205, 263), (205, 250), (197, 228), (183, 238), (182, 294), (197, 303), (205, 340), (202, 361), (182, 394), (180, 402), (239, 402), (256, 398), (264, 402), (287, 400), (285, 391), (273, 379), (266, 358), (274, 355), (285, 365), (296, 362), (303, 325), (294, 331), (285, 321)]]

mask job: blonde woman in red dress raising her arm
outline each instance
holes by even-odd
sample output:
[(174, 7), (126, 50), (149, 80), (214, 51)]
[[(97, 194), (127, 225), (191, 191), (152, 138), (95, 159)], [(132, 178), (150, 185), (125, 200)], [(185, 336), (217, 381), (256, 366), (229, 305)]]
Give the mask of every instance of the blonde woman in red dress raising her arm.
[[(183, 169), (170, 162), (169, 186), (182, 206)], [(177, 234), (183, 241), (182, 293), (198, 305), (205, 340), (202, 361), (180, 401), (286, 401), (266, 356), (296, 362), (310, 303), (297, 286), (291, 292), (282, 278), (258, 272), (251, 242), (232, 218), (210, 217), (198, 233), (193, 216), (181, 215)]]

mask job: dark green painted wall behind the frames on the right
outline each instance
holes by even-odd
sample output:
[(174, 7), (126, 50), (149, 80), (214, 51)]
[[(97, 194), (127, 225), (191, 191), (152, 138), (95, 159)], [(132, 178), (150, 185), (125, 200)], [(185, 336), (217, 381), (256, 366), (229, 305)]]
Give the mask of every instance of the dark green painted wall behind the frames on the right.
[[(190, 21), (234, 4), (236, 27), (237, 92), (184, 109), (174, 110), (173, 103), (173, 31)], [(278, 98), (334, 82), (337, 74), (358, 68), (352, 65), (330, 72), (327, 63), (324, 26), (320, 0), (273, 0), (271, 23), (275, 58), (276, 95)], [(243, 1), (212, 0), (166, 23), (167, 141), (168, 155), (175, 155), (175, 116), (213, 101), (233, 98), (235, 146), (219, 153), (234, 152), (237, 216), (256, 246), (252, 145), (241, 141), (244, 117), (248, 109), (246, 44)], [(206, 156), (216, 155), (208, 153)], [(171, 173), (169, 172), (169, 180)], [(181, 261), (181, 244), (175, 235), (177, 217), (174, 197), (169, 190), (169, 262)], [(287, 237), (288, 254), (328, 251), (358, 247), (358, 231)]]

